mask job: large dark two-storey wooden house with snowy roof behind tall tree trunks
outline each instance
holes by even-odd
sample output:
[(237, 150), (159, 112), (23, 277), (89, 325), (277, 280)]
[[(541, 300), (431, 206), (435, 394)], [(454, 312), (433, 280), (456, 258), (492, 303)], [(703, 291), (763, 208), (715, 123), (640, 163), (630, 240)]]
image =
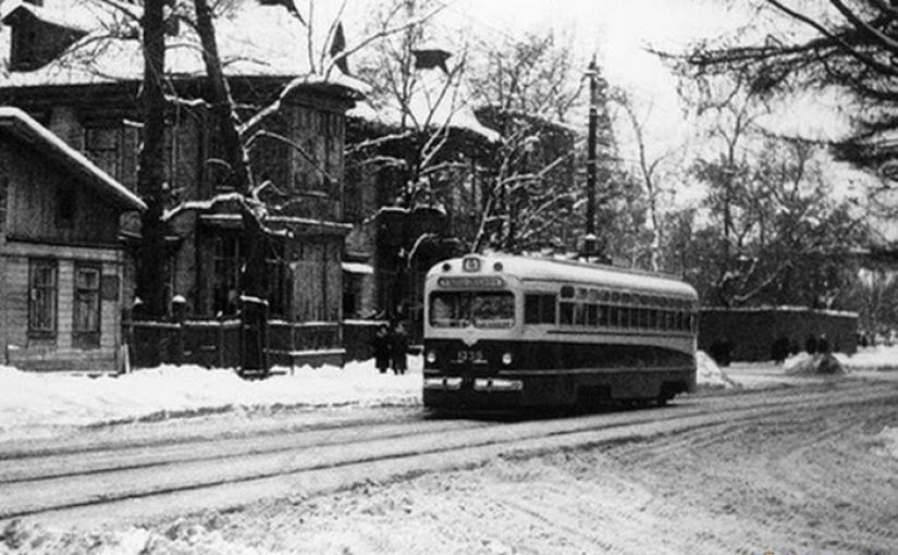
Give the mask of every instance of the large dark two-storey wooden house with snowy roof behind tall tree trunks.
[[(237, 310), (247, 244), (236, 192), (216, 163), (221, 145), (198, 37), (190, 25), (177, 25), (192, 4), (176, 2), (167, 26), (167, 91), (179, 98), (167, 111), (167, 295), (184, 299), (187, 319), (209, 320)], [(352, 230), (343, 209), (344, 119), (364, 85), (336, 69), (313, 71), (303, 48), (308, 27), (283, 4), (235, 0), (216, 9), (225, 76), (275, 237), (266, 252), (265, 300), (288, 341), (273, 348), (284, 362), (340, 362), (343, 244)], [(12, 37), (0, 104), (25, 110), (135, 192), (139, 5), (7, 0), (0, 18)], [(133, 224), (125, 233), (139, 238)]]

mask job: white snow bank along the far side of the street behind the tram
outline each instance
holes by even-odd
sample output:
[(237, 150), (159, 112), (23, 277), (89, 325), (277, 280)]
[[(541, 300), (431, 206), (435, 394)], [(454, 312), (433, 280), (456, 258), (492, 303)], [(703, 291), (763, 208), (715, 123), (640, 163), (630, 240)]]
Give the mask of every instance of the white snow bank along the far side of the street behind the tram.
[[(798, 355), (782, 367), (807, 358)], [(839, 355), (849, 371), (898, 368), (898, 347)], [(421, 399), (420, 357), (409, 357), (404, 375), (379, 373), (371, 360), (345, 368), (282, 370), (268, 380), (245, 381), (232, 370), (160, 367), (119, 377), (41, 374), (0, 366), (0, 440), (39, 437), (64, 429), (103, 422), (126, 422), (180, 416), (334, 406), (416, 406)], [(766, 365), (766, 368), (774, 368)], [(776, 367), (775, 371), (779, 371)], [(704, 353), (699, 354), (700, 388), (754, 387), (762, 380), (740, 383)]]

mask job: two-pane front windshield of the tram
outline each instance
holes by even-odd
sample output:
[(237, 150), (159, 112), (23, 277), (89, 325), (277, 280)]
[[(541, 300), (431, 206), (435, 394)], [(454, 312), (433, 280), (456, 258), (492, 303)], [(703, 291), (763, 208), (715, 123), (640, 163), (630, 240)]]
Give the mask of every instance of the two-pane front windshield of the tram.
[(515, 296), (507, 291), (440, 291), (430, 295), (430, 325), (434, 328), (510, 328)]

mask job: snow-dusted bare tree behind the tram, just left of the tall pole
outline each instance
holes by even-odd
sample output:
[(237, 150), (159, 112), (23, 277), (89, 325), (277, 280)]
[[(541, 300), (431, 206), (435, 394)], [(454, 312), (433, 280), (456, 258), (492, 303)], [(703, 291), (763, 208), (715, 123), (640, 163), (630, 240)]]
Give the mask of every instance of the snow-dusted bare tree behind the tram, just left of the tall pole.
[[(575, 174), (585, 147), (567, 121), (583, 113), (586, 64), (552, 30), (499, 44), (484, 39), (477, 52), (482, 63), (472, 64), (471, 90), (478, 114), (501, 140), (472, 248), (573, 250), (585, 226), (578, 209), (586, 190)], [(610, 122), (603, 123), (605, 143), (612, 143)]]

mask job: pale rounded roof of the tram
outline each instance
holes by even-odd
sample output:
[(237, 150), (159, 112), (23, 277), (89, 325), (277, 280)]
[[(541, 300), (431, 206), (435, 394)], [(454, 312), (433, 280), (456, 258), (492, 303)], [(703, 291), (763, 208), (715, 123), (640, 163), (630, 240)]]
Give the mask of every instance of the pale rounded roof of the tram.
[(463, 260), (467, 258), (481, 260), (480, 267), (483, 269), (481, 273), (491, 272), (495, 262), (502, 262), (504, 273), (518, 275), (520, 279), (528, 281), (568, 282), (594, 287), (619, 287), (642, 293), (652, 292), (662, 295), (698, 298), (698, 294), (691, 285), (673, 276), (554, 258), (469, 255), (438, 263), (430, 270), (429, 275), (440, 275), (445, 263), (451, 264), (452, 272), (460, 272)]

